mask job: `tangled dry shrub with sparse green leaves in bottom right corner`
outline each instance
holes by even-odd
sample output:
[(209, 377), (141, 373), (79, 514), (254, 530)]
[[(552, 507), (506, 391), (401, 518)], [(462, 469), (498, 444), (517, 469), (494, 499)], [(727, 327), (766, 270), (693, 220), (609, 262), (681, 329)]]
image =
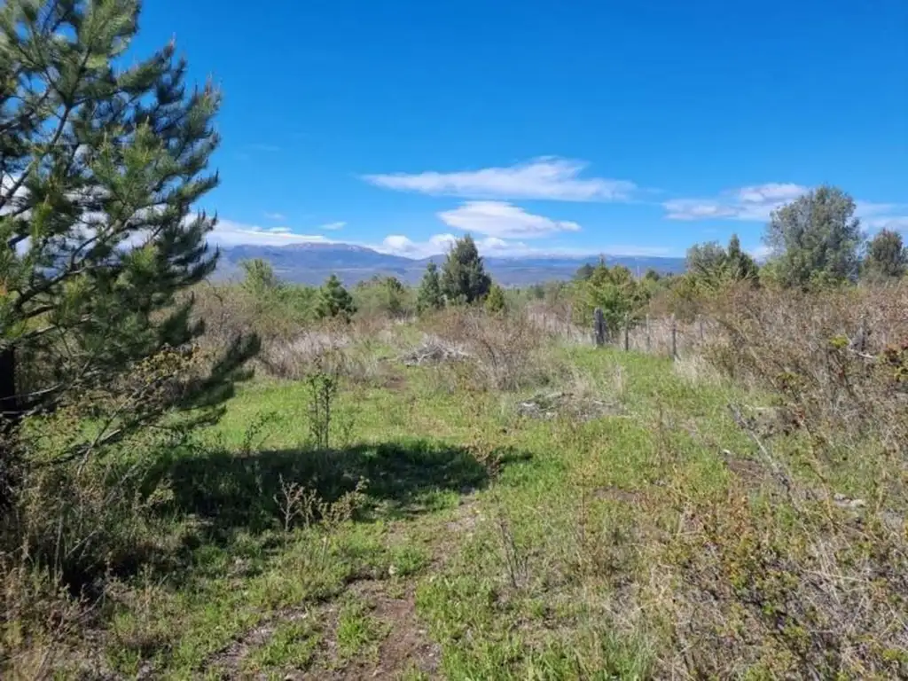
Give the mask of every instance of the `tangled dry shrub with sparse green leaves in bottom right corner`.
[(903, 532), (822, 501), (672, 494), (677, 531), (646, 557), (646, 607), (673, 631), (666, 676), (908, 674)]

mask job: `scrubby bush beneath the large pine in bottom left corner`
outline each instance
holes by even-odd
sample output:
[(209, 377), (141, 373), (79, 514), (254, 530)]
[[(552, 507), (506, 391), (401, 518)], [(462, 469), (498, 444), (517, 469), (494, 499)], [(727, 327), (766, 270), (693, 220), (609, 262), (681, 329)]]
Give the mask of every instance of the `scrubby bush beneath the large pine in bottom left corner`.
[(77, 665), (73, 646), (111, 577), (179, 541), (156, 516), (171, 490), (151, 484), (155, 450), (173, 447), (171, 436), (144, 432), (66, 460), (58, 452), (71, 443), (61, 435), (80, 424), (64, 414), (43, 420), (41, 437), (26, 424), (15, 504), (0, 518), (0, 676), (12, 678)]

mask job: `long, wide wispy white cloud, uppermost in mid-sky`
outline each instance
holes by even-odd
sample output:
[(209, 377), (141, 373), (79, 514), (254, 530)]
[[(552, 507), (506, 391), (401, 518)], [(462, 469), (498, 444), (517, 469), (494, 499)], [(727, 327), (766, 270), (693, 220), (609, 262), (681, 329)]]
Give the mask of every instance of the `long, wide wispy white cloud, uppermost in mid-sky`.
[(548, 199), (552, 201), (623, 201), (637, 189), (624, 180), (580, 178), (587, 163), (542, 157), (508, 167), (459, 173), (365, 175), (385, 189), (469, 199)]

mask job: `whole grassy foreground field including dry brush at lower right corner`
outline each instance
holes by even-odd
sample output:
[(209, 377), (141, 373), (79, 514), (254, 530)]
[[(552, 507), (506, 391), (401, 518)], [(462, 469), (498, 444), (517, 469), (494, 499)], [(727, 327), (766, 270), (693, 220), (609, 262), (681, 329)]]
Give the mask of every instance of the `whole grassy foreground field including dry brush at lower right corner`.
[[(818, 470), (804, 434), (757, 422), (766, 395), (700, 361), (546, 351), (548, 385), (533, 390), (376, 360), (371, 380), (341, 381), (327, 449), (309, 444), (315, 384), (242, 384), (216, 427), (160, 463), (163, 543), (108, 576), (104, 624), (80, 632), (77, 666), (123, 678), (908, 674), (903, 592), (890, 588), (904, 578), (903, 497), (887, 498), (894, 528), (864, 513), (883, 463)], [(793, 481), (838, 501), (786, 494)], [(857, 579), (877, 590), (856, 592)], [(830, 645), (845, 613), (854, 621)]]

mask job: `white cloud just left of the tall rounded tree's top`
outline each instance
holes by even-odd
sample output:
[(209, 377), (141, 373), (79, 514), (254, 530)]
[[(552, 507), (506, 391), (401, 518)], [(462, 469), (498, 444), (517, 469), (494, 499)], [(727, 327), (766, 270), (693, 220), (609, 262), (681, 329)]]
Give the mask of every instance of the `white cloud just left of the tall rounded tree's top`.
[(724, 192), (715, 199), (675, 199), (663, 203), (669, 220), (749, 220), (765, 222), (776, 208), (809, 192), (792, 183), (767, 183)]

